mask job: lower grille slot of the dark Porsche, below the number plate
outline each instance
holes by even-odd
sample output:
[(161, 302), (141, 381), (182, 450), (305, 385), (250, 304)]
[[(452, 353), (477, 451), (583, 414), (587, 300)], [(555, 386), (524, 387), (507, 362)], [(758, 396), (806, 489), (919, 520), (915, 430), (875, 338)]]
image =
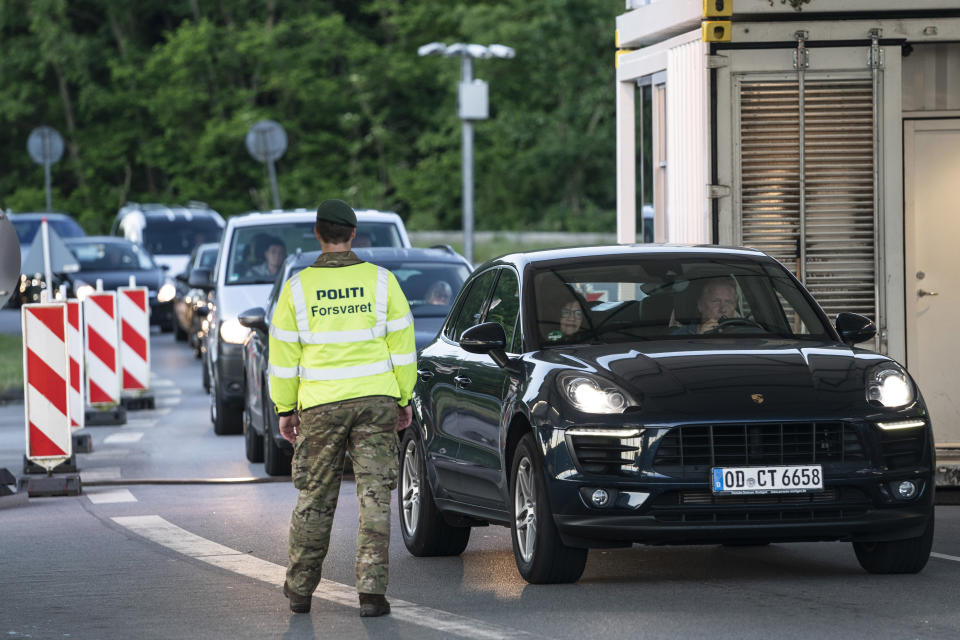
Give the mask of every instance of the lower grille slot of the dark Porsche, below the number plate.
[(870, 504), (856, 487), (828, 487), (818, 493), (763, 495), (667, 491), (650, 507), (659, 522), (816, 522), (857, 518)]

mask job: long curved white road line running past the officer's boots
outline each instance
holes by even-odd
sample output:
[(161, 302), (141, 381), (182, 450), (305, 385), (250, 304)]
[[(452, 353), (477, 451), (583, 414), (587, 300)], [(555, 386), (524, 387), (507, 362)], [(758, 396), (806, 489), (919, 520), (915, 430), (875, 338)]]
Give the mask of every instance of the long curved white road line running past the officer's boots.
[[(160, 516), (122, 516), (113, 518), (113, 521), (168, 549), (215, 567), (267, 582), (278, 589), (283, 586), (286, 579), (285, 567), (202, 538), (167, 522)], [(313, 592), (313, 596), (349, 607), (357, 606), (357, 592), (354, 587), (339, 582), (322, 580), (320, 586)], [(508, 638), (541, 637), (394, 598), (390, 598), (390, 607), (390, 615), (396, 620), (461, 638), (507, 640)]]

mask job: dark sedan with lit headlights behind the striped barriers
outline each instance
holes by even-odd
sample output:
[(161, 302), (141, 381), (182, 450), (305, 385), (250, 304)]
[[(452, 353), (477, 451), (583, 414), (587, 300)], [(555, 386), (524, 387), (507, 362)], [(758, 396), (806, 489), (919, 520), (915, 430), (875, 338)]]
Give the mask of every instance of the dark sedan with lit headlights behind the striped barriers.
[(86, 298), (96, 291), (97, 280), (102, 281), (104, 291), (115, 291), (128, 286), (133, 276), (137, 286), (147, 287), (151, 326), (173, 331), (176, 288), (167, 270), (142, 246), (112, 236), (68, 238), (64, 243), (80, 263), (80, 270), (69, 274), (73, 295)]

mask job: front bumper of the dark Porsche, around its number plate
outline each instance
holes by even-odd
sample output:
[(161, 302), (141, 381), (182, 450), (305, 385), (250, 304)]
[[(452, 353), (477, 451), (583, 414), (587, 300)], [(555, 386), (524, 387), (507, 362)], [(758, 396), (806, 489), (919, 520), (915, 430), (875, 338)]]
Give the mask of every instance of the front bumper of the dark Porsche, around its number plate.
[[(920, 536), (933, 512), (935, 491), (929, 426), (906, 444), (903, 438), (888, 442), (867, 423), (844, 429), (837, 433), (846, 433), (849, 458), (822, 461), (823, 491), (805, 494), (715, 495), (712, 464), (668, 467), (670, 456), (658, 455), (660, 446), (677, 443), (662, 437), (666, 431), (639, 444), (636, 452), (610, 453), (593, 472), (588, 460), (597, 460), (597, 441), (574, 445), (562, 430), (550, 428), (539, 430), (539, 439), (552, 513), (570, 546), (891, 541)], [(854, 443), (854, 430), (860, 444)], [(711, 441), (721, 437), (715, 431)], [(628, 442), (638, 443), (620, 441)], [(627, 459), (635, 455), (635, 462), (620, 463), (618, 455)], [(910, 499), (897, 494), (896, 487), (904, 480), (918, 489)], [(597, 489), (609, 496), (602, 507), (591, 500)]]

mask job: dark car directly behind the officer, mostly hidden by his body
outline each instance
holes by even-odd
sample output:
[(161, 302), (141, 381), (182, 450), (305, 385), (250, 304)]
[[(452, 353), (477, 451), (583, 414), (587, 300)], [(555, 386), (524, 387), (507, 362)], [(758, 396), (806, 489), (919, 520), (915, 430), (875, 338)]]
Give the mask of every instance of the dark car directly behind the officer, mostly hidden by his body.
[[(361, 260), (389, 269), (397, 277), (410, 304), (417, 348), (437, 335), (450, 310), (453, 296), (470, 275), (470, 263), (450, 248), (412, 249), (371, 247), (353, 250)], [(265, 308), (248, 309), (240, 322), (251, 329), (243, 345), (243, 370), (246, 392), (243, 403), (243, 430), (247, 460), (263, 462), (267, 474), (290, 473), (290, 443), (280, 436), (276, 411), (270, 400), (268, 362), (270, 318), (283, 283), (290, 276), (313, 264), (319, 251), (287, 258), (283, 272), (274, 283)], [(438, 291), (449, 294), (443, 298)]]

